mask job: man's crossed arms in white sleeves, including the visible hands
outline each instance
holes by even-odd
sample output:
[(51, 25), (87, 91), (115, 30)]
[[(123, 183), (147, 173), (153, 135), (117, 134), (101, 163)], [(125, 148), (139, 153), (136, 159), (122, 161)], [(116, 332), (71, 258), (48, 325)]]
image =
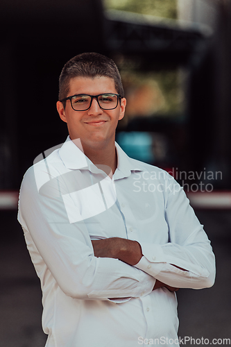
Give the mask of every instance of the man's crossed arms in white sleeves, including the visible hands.
[(155, 243), (154, 232), (162, 230), (156, 224), (146, 243), (119, 237), (91, 242), (85, 223), (69, 223), (62, 196), (37, 191), (33, 169), (24, 178), (20, 196), (19, 221), (37, 272), (44, 282), (49, 269), (68, 296), (108, 300), (148, 295), (164, 284), (202, 288), (214, 282), (214, 255), (184, 196), (177, 203), (174, 196), (169, 198), (171, 242), (166, 244)]

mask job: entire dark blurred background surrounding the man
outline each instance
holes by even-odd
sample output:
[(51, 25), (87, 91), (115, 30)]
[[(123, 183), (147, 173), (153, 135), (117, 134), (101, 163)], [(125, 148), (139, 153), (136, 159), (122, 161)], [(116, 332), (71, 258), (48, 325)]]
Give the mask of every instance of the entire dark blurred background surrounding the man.
[(17, 198), (37, 155), (65, 142), (58, 78), (84, 51), (121, 71), (128, 106), (117, 142), (178, 180), (212, 241), (216, 284), (178, 291), (179, 336), (231, 338), (230, 1), (1, 0), (0, 19), (0, 346), (46, 341)]

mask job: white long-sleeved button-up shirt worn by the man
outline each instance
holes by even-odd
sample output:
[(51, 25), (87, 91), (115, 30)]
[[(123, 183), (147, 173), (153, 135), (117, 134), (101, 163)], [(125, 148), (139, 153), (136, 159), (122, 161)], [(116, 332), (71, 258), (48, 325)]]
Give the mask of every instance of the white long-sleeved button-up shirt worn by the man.
[[(178, 346), (176, 294), (153, 291), (155, 279), (214, 283), (214, 254), (185, 192), (116, 146), (112, 179), (69, 138), (24, 176), (19, 222), (41, 280), (46, 347)], [(137, 240), (144, 256), (135, 266), (94, 257), (91, 239), (104, 237)]]

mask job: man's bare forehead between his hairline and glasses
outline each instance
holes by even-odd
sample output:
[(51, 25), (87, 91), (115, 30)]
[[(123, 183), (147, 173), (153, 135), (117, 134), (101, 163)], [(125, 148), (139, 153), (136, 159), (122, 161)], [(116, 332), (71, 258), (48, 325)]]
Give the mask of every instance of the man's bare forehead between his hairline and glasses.
[(74, 77), (69, 82), (69, 95), (117, 93), (114, 80), (110, 77)]

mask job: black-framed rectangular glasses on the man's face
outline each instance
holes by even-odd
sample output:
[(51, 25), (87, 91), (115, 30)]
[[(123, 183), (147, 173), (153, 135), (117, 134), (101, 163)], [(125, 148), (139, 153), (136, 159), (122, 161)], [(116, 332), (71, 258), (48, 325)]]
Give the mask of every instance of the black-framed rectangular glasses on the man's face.
[(71, 107), (73, 110), (86, 111), (91, 107), (93, 98), (96, 98), (99, 107), (102, 108), (102, 110), (114, 110), (114, 108), (117, 108), (118, 102), (121, 100), (119, 94), (104, 93), (99, 95), (77, 94), (67, 96), (67, 98), (60, 101), (69, 100), (71, 101)]

